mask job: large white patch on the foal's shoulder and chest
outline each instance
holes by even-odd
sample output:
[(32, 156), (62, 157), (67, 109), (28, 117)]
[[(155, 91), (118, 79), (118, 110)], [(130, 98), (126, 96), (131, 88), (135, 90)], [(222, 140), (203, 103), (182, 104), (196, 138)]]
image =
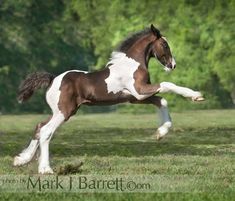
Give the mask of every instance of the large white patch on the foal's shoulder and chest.
[(140, 95), (135, 87), (134, 73), (140, 63), (126, 56), (123, 52), (113, 52), (112, 58), (107, 65), (110, 65), (109, 77), (105, 79), (108, 93), (123, 92), (131, 94), (138, 100), (145, 99), (151, 95)]

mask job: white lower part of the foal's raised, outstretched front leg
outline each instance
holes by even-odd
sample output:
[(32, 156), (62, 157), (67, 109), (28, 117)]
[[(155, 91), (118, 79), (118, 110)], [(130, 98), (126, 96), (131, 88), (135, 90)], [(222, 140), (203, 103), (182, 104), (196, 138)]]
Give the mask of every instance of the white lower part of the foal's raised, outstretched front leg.
[(173, 92), (181, 96), (190, 97), (190, 98), (202, 97), (202, 94), (198, 91), (193, 91), (192, 89), (189, 89), (187, 87), (180, 87), (171, 82), (161, 82), (159, 92), (160, 93)]

